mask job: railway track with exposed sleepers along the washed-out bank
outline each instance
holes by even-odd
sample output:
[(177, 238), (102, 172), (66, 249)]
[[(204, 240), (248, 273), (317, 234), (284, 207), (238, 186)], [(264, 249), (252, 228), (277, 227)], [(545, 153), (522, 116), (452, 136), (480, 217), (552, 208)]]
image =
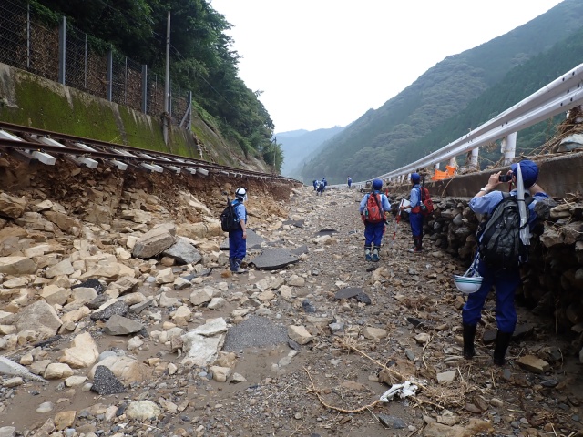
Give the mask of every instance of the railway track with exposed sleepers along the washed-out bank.
[(184, 171), (202, 177), (214, 173), (226, 177), (274, 179), (298, 183), (295, 179), (270, 173), (221, 166), (201, 159), (4, 122), (0, 122), (0, 150), (11, 153), (17, 158), (36, 160), (47, 166), (56, 165), (58, 157), (66, 158), (79, 167), (87, 168), (105, 165), (122, 171), (128, 168), (158, 173), (169, 171), (175, 174)]

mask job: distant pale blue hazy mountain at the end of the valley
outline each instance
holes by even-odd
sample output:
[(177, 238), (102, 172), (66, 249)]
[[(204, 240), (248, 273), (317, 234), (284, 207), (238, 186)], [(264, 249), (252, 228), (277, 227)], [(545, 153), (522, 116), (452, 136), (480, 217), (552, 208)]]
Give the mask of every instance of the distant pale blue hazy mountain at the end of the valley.
[(302, 164), (303, 160), (310, 155), (317, 153), (326, 140), (342, 131), (343, 127), (335, 126), (329, 129), (318, 129), (312, 131), (302, 129), (275, 134), (277, 137), (277, 143), (281, 146), (281, 150), (283, 151), (283, 166), (281, 167), (281, 174), (290, 178), (298, 178), (301, 170), (299, 166)]

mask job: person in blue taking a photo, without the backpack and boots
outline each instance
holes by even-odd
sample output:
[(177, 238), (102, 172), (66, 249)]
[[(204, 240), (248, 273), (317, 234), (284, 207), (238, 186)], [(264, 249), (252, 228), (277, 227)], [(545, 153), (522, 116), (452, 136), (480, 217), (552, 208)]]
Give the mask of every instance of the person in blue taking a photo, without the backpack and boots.
[[(535, 205), (537, 201), (548, 198), (547, 193), (537, 185), (538, 168), (537, 164), (530, 160), (523, 160), (520, 163), (520, 172), (522, 174), (522, 181), (525, 188), (525, 198), (529, 198), (527, 205), (529, 209), (528, 225), (532, 229), (537, 220), (535, 213)], [(470, 200), (469, 207), (476, 214), (492, 214), (497, 205), (502, 202), (504, 195), (496, 188), (503, 184), (500, 181), (501, 172), (493, 173), (488, 178), (488, 182), (484, 188), (481, 188), (474, 198)], [(512, 164), (510, 171), (507, 172), (508, 178), (511, 178), (511, 186), (514, 186), (510, 195), (517, 195), (517, 164)], [(478, 236), (480, 242), (484, 237), (482, 233)], [(498, 331), (496, 333), (496, 346), (494, 348), (494, 363), (502, 366), (505, 363), (506, 350), (512, 334), (517, 325), (517, 311), (514, 306), (514, 295), (520, 284), (519, 263), (518, 267), (506, 264), (506, 267), (493, 268), (481, 260), (482, 254), (476, 254), (475, 264), (477, 264), (477, 271), (482, 276), (482, 283), (480, 288), (468, 295), (462, 310), (462, 321), (464, 328), (464, 358), (470, 360), (475, 355), (474, 339), (476, 337), (476, 326), (481, 318), (482, 308), (486, 297), (492, 288), (496, 289), (496, 325)], [(520, 260), (518, 260), (520, 261)]]

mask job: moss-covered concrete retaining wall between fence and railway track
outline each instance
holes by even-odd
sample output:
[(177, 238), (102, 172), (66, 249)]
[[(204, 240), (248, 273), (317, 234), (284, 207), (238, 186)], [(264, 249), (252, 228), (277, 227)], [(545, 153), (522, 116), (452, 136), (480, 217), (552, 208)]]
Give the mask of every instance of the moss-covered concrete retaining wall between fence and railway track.
[(189, 158), (199, 158), (197, 136), (215, 162), (263, 170), (199, 118), (193, 118), (192, 132), (172, 127), (167, 146), (161, 119), (5, 64), (0, 64), (0, 120)]

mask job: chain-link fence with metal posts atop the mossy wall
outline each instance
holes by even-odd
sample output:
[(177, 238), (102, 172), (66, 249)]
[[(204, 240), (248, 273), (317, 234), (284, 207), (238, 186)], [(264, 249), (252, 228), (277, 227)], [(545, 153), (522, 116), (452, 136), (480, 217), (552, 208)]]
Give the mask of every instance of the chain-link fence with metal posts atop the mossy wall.
[[(64, 41), (59, 30), (63, 31)], [(108, 54), (99, 53), (92, 48), (92, 41), (97, 40), (66, 25), (65, 20), (60, 27), (41, 24), (33, 8), (24, 2), (0, 2), (0, 62), (161, 117), (165, 112), (164, 79), (150, 75), (146, 66), (118, 53), (113, 47)], [(101, 42), (98, 46), (107, 44)], [(59, 66), (63, 66), (62, 75), (59, 75)], [(144, 80), (145, 75), (147, 80)], [(187, 110), (189, 93), (172, 89), (169, 97), (172, 123), (179, 125)]]

